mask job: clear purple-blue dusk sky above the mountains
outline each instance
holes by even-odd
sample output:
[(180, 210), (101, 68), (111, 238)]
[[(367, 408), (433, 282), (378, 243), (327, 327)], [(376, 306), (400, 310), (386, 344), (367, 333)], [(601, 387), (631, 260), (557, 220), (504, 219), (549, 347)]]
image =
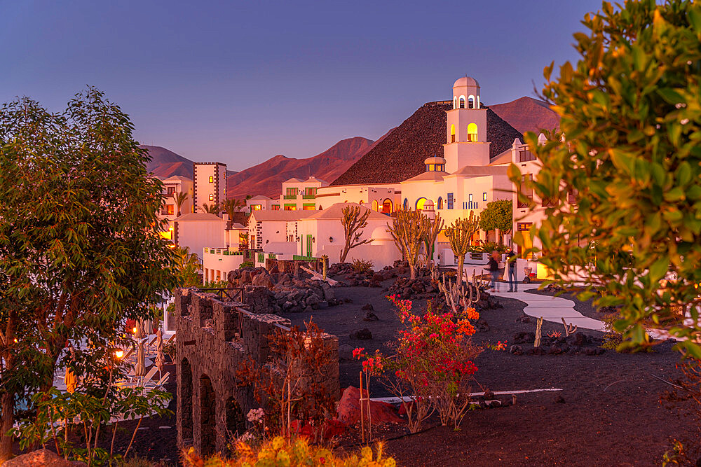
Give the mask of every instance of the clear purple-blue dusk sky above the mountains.
[(601, 2), (0, 0), (0, 101), (59, 111), (95, 85), (143, 144), (240, 170), (377, 139), (468, 74), (482, 102), (540, 88)]

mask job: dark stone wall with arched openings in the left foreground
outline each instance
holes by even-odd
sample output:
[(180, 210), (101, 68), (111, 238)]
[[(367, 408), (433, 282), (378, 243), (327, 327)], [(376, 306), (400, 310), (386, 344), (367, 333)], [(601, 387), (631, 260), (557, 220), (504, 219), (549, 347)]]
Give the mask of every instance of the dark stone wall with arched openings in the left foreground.
[[(177, 443), (200, 454), (226, 451), (233, 431), (243, 434), (245, 414), (259, 407), (251, 387), (238, 387), (236, 370), (247, 358), (264, 365), (268, 336), (289, 331), (276, 314), (252, 313), (243, 303), (222, 302), (213, 293), (184, 288), (175, 293), (177, 350)], [(260, 311), (260, 310), (257, 310)], [(320, 378), (339, 398), (338, 338), (324, 335), (332, 363)]]

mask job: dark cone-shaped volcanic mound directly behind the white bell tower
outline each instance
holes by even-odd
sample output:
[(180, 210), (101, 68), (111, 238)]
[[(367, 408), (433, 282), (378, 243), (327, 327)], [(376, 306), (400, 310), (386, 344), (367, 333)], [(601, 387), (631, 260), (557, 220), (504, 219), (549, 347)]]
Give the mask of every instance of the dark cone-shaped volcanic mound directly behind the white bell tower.
[[(451, 106), (451, 101), (423, 104), (331, 184), (398, 183), (422, 174), (426, 158), (443, 155), (446, 111)], [(487, 109), (486, 140), (491, 142), (491, 158), (510, 148), (516, 138), (523, 139), (523, 135)]]

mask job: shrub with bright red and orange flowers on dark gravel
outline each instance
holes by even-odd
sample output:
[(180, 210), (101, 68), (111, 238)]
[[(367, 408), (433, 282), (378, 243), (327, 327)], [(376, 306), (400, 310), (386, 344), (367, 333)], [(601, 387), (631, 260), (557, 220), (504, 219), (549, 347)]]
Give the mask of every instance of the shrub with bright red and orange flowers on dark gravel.
[[(440, 414), (441, 423), (452, 423), (458, 428), (470, 407), (470, 382), (477, 372), (473, 360), (482, 347), (472, 343), (475, 327), (470, 320), (479, 319), (475, 309), (468, 310), (467, 318), (458, 319), (452, 313), (433, 312), (428, 302), (426, 314), (411, 313), (411, 300), (400, 300), (397, 295), (388, 296), (398, 309), (404, 325), (395, 342), (396, 354), (374, 356), (364, 349), (355, 349), (355, 358), (364, 358), (363, 369), (375, 375), (383, 375), (390, 391), (404, 400), (404, 409), (412, 432), (421, 428), (421, 422), (434, 410)], [(499, 342), (493, 349), (503, 349)], [(388, 377), (388, 372), (394, 377)]]

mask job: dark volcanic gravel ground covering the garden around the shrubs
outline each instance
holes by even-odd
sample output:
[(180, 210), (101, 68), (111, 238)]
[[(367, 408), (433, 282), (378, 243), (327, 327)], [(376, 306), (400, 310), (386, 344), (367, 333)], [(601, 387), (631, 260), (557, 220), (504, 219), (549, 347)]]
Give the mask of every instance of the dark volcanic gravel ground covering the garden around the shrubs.
[[(386, 281), (383, 286), (388, 286)], [(535, 284), (531, 284), (535, 287)], [(386, 350), (399, 324), (386, 300), (383, 288), (336, 288), (338, 298), (353, 303), (319, 309), (313, 314), (287, 314), (293, 323), (303, 325), (313, 317), (322, 329), (339, 336), (341, 346), (341, 387), (358, 385), (360, 364), (350, 352), (355, 347)], [(535, 323), (522, 323), (523, 302), (500, 298), (503, 308), (487, 310), (482, 317), (490, 330), (477, 333), (477, 342), (508, 340), (522, 331), (533, 332)], [(380, 321), (362, 321), (362, 305), (370, 303)], [(423, 310), (425, 302), (414, 302)], [(587, 303), (577, 309), (597, 318)], [(360, 328), (372, 332), (372, 340), (351, 340)], [(562, 325), (543, 323), (543, 335), (563, 330)], [(589, 335), (601, 333), (585, 330)], [(526, 349), (530, 344), (522, 344)], [(343, 347), (346, 346), (346, 347)], [(517, 396), (517, 404), (494, 410), (468, 412), (461, 431), (435, 426), (423, 433), (388, 440), (386, 452), (401, 466), (494, 466), (494, 465), (654, 465), (669, 448), (669, 438), (692, 431), (695, 420), (683, 416), (683, 406), (663, 407), (659, 400), (677, 377), (674, 364), (679, 355), (672, 344), (660, 344), (648, 354), (617, 354), (606, 351), (600, 356), (522, 355), (506, 351), (485, 351), (477, 358), (477, 381), (492, 391), (559, 388), (562, 391), (538, 392)], [(168, 389), (175, 393), (175, 368)], [(475, 391), (479, 387), (475, 386)], [(387, 395), (374, 381), (372, 396)], [(562, 396), (564, 403), (556, 402)], [(175, 405), (175, 404), (172, 404)], [(175, 407), (173, 407), (175, 408)], [(128, 428), (135, 421), (125, 422)], [(432, 420), (426, 426), (435, 425)], [(167, 426), (168, 428), (161, 428)], [(144, 419), (132, 451), (152, 461), (170, 464), (177, 459), (175, 419)], [(389, 430), (390, 436), (400, 430)], [(110, 433), (111, 434), (111, 433)], [(131, 430), (117, 437), (123, 452)]]

